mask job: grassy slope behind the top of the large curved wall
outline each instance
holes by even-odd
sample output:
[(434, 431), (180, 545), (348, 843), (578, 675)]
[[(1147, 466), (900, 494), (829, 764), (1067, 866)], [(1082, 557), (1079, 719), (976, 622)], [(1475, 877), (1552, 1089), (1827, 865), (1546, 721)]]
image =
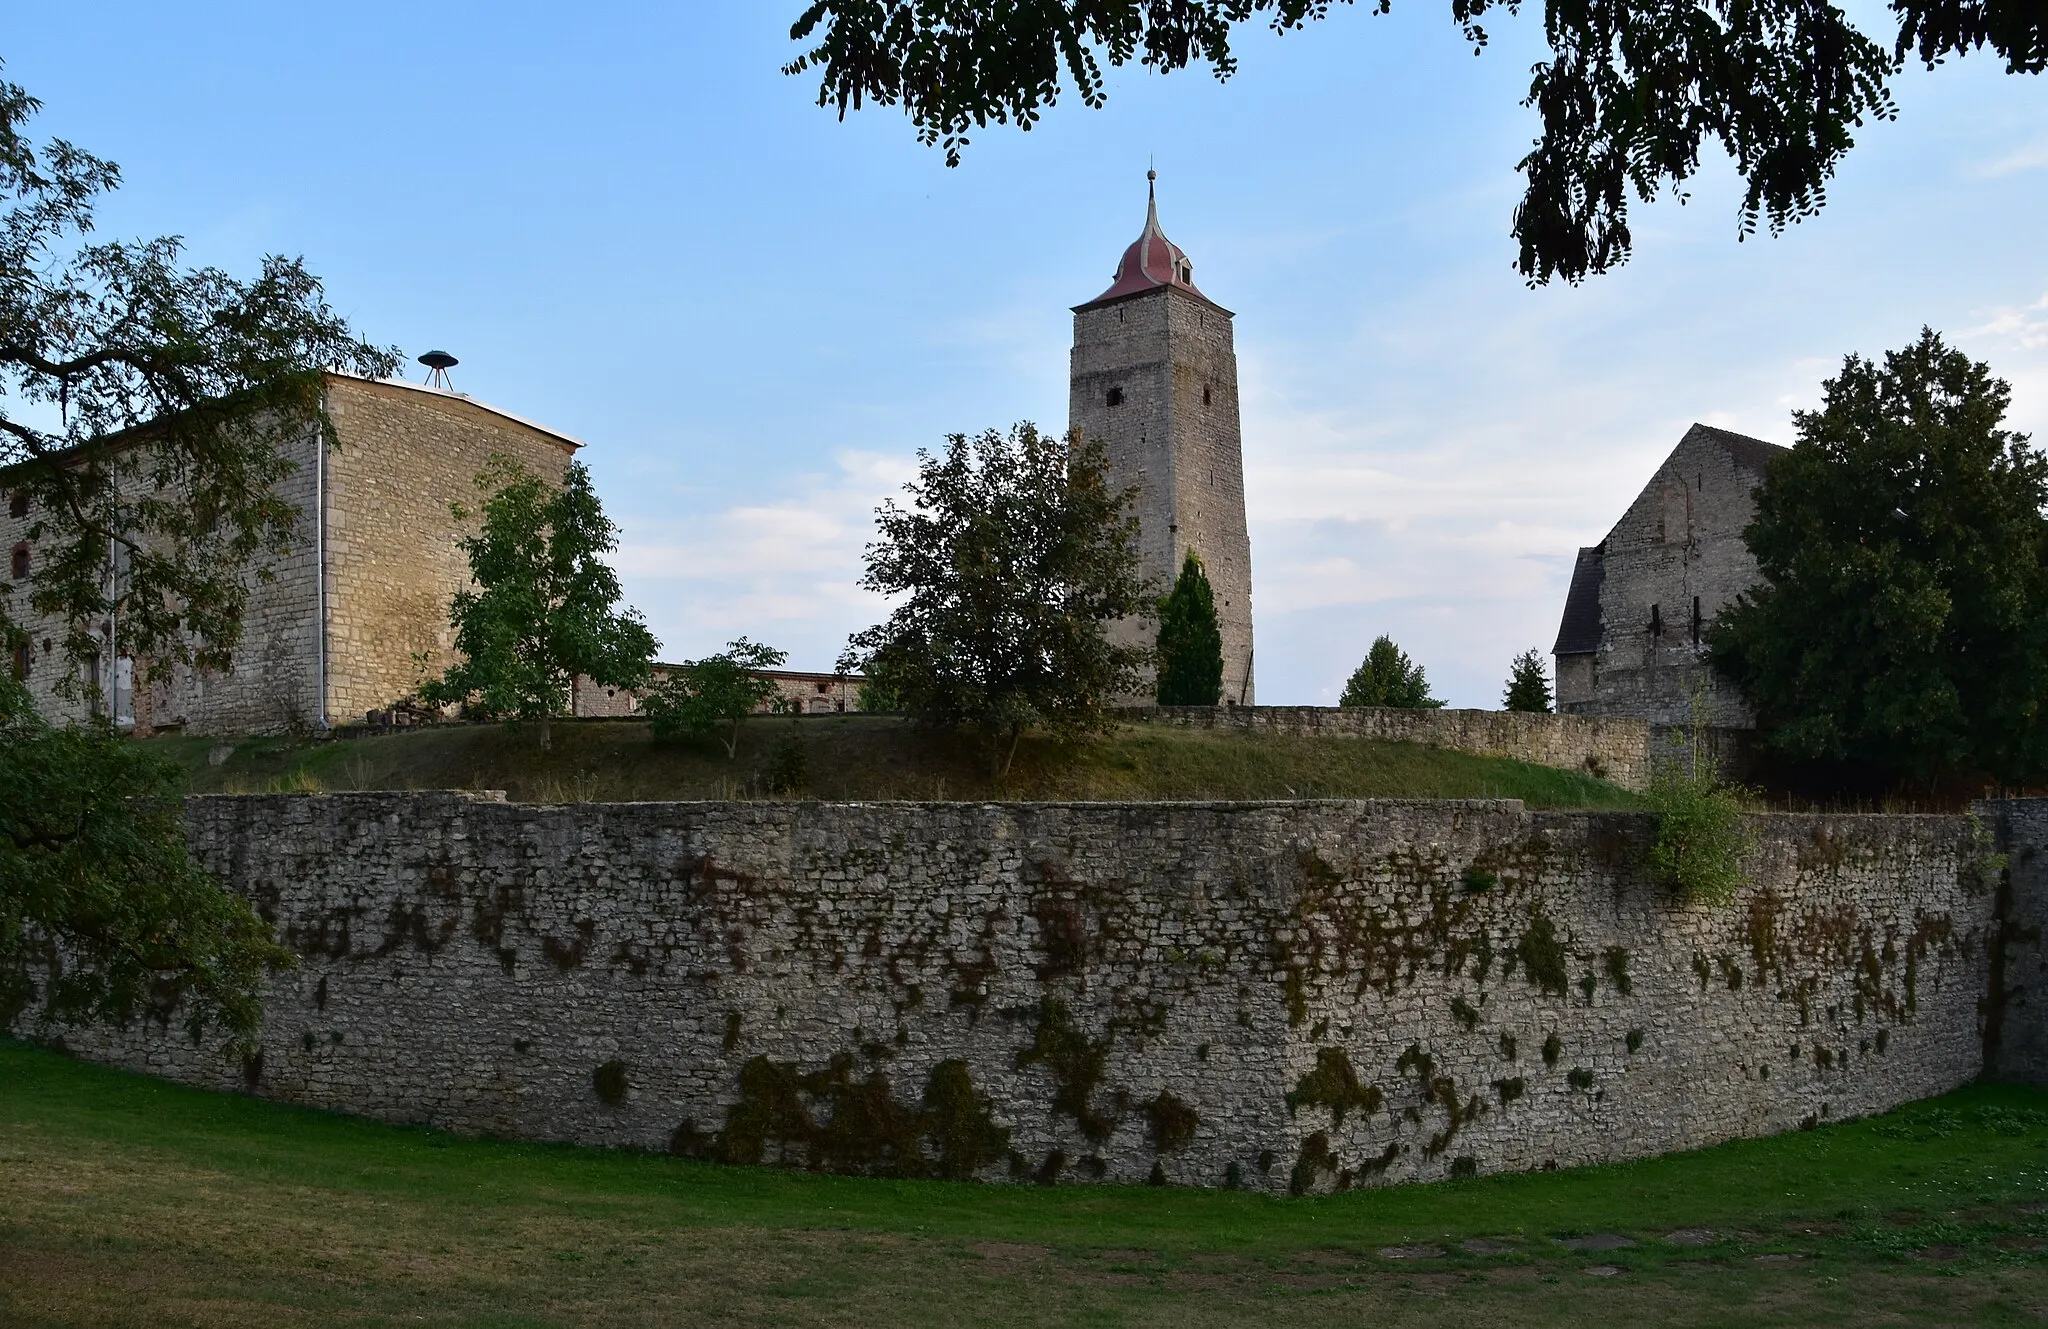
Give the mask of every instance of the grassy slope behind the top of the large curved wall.
[[(502, 788), (514, 801), (748, 799), (772, 788), (778, 747), (817, 799), (1522, 799), (1530, 807), (1640, 807), (1581, 772), (1479, 758), (1417, 743), (1124, 725), (1085, 743), (1028, 737), (1008, 778), (975, 743), (895, 717), (760, 719), (739, 752), (655, 743), (629, 721), (557, 723), (543, 754), (516, 725), (451, 725), (375, 737), (203, 739), (152, 747), (186, 768), (193, 792), (342, 788)], [(209, 754), (225, 760), (215, 766)]]

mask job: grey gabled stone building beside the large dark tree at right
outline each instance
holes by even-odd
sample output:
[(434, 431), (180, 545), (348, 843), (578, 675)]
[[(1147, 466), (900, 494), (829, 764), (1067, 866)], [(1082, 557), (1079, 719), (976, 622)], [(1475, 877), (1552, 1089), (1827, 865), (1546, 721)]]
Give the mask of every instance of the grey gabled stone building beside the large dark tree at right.
[(1743, 543), (1763, 473), (1786, 448), (1696, 424), (1597, 545), (1579, 551), (1556, 645), (1556, 709), (1714, 727), (1755, 715), (1706, 661), (1706, 627), (1757, 584)]

